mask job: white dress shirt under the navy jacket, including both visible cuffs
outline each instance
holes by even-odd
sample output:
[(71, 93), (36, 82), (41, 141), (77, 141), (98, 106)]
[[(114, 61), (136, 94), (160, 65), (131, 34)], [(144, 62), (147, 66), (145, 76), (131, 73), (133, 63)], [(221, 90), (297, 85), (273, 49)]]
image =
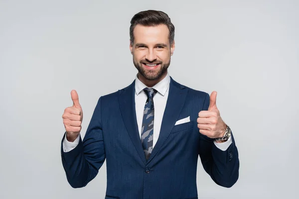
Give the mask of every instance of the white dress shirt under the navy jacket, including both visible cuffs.
[[(152, 147), (154, 147), (155, 143), (158, 140), (161, 123), (162, 123), (162, 117), (164, 114), (164, 110), (166, 107), (166, 102), (168, 98), (169, 93), (169, 83), (170, 83), (170, 76), (169, 73), (167, 73), (166, 77), (161, 80), (159, 83), (154, 85), (152, 88), (157, 91), (157, 93), (153, 97), (154, 101), (154, 125), (153, 125), (153, 143)], [(144, 108), (146, 101), (148, 100), (147, 94), (143, 91), (147, 86), (142, 83), (138, 79), (138, 75), (136, 75), (135, 80), (135, 109), (136, 109), (136, 118), (137, 118), (137, 124), (139, 129), (139, 135), (141, 137), (141, 128), (142, 128), (142, 121), (143, 121), (143, 114), (144, 114)], [(198, 132), (199, 133), (199, 132)], [(80, 136), (76, 138), (74, 142), (69, 142), (66, 138), (63, 140), (63, 151), (69, 152), (72, 149), (74, 149), (78, 143), (79, 143)], [(225, 151), (230, 144), (232, 143), (231, 137), (226, 141), (222, 143), (216, 143), (214, 141), (214, 144), (221, 149), (222, 151)]]

